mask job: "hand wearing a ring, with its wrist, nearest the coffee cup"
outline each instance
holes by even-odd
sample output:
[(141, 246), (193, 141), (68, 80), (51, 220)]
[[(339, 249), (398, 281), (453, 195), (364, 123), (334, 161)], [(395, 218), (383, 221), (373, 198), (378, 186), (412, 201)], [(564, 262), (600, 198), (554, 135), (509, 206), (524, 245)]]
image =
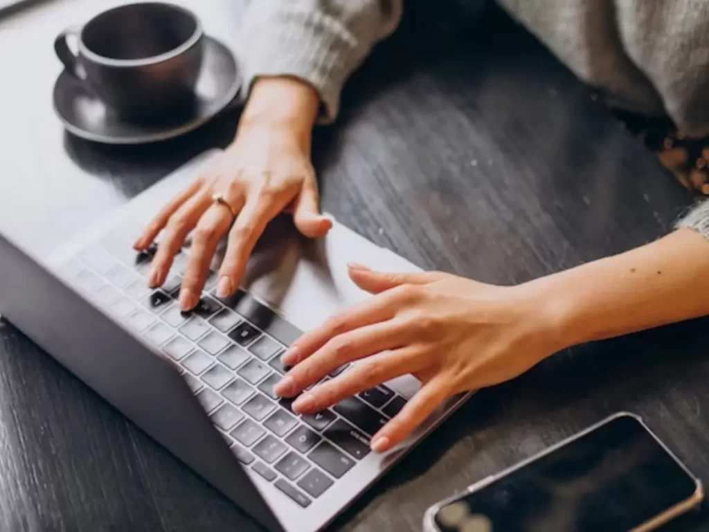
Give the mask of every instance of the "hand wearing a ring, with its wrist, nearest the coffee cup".
[[(262, 79), (240, 121), (234, 142), (211, 168), (172, 199), (147, 226), (135, 248), (145, 250), (160, 231), (148, 279), (164, 283), (174, 256), (194, 231), (179, 303), (199, 303), (219, 240), (229, 233), (218, 295), (238, 289), (246, 263), (267, 223), (281, 211), (294, 214), (306, 236), (323, 236), (332, 222), (319, 214), (318, 187), (310, 161), (311, 130), (318, 109), (311, 87), (291, 79)], [(215, 201), (215, 194), (223, 203)]]

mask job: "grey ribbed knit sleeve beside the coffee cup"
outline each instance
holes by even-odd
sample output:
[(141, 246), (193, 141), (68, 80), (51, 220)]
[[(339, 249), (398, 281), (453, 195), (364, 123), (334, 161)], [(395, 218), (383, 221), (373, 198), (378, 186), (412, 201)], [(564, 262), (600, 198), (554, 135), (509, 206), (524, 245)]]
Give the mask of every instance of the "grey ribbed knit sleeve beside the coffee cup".
[(340, 107), (347, 77), (401, 18), (402, 0), (250, 0), (237, 55), (246, 98), (257, 77), (289, 75), (320, 94), (321, 122)]

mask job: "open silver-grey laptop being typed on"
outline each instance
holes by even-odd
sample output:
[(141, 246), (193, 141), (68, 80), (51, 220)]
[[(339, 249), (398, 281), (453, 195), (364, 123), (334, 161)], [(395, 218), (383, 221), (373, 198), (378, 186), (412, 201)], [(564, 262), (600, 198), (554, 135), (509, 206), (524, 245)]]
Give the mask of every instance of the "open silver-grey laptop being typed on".
[(370, 438), (418, 390), (411, 375), (310, 416), (297, 416), (291, 401), (274, 395), (286, 371), (280, 356), (301, 331), (370, 297), (347, 277), (347, 262), (418, 270), (337, 221), (325, 238), (308, 240), (290, 217), (277, 218), (241, 289), (225, 299), (215, 292), (221, 245), (201, 302), (188, 314), (179, 311), (177, 294), (189, 242), (164, 286), (148, 289), (153, 253), (136, 253), (131, 243), (214, 155), (157, 182), (49, 260), (0, 235), (0, 313), (231, 499), (254, 530), (319, 531), (467, 394), (384, 454), (369, 450)]

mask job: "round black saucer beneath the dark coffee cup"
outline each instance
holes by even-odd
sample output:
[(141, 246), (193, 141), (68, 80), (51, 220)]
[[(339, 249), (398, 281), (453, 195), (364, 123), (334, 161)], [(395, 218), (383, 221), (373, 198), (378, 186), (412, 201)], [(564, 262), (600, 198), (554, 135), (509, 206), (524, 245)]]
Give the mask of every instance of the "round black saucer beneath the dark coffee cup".
[(193, 108), (169, 122), (131, 123), (121, 120), (71, 74), (62, 72), (54, 87), (54, 109), (69, 133), (106, 144), (145, 144), (183, 135), (216, 116), (240, 88), (234, 56), (218, 40), (206, 37), (204, 62)]

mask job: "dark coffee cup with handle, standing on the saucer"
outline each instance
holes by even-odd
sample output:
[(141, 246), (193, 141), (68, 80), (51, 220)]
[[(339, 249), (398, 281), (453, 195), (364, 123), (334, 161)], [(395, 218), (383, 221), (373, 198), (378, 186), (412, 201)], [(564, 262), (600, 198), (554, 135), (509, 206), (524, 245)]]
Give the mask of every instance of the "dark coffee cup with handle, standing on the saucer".
[(63, 31), (55, 51), (67, 72), (108, 109), (145, 121), (194, 105), (203, 41), (194, 13), (145, 2), (109, 9)]

